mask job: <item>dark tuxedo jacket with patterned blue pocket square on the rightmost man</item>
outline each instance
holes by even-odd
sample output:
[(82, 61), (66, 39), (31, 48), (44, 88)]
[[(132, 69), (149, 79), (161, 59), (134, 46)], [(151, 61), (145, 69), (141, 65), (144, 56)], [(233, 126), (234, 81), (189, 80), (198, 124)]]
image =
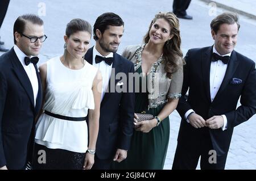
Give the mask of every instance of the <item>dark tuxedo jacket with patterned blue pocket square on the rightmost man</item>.
[[(193, 144), (195, 140), (200, 141), (201, 133), (207, 129), (217, 155), (224, 155), (228, 153), (233, 128), (250, 119), (256, 112), (255, 62), (233, 50), (220, 89), (211, 102), (209, 81), (212, 49), (190, 49), (185, 56), (182, 96), (177, 105), (182, 118), (178, 141)], [(239, 98), (241, 106), (237, 108)], [(190, 109), (205, 120), (214, 115), (225, 115), (228, 129), (193, 128), (184, 119), (185, 112)]]

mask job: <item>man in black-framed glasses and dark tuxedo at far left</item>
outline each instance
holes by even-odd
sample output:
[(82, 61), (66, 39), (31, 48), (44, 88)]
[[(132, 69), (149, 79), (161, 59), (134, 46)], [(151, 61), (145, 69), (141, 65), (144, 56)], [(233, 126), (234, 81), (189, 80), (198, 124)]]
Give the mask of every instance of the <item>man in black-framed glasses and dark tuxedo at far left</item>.
[(0, 169), (24, 169), (32, 157), (35, 117), (42, 104), (35, 56), (45, 39), (42, 19), (19, 16), (15, 45), (0, 57)]

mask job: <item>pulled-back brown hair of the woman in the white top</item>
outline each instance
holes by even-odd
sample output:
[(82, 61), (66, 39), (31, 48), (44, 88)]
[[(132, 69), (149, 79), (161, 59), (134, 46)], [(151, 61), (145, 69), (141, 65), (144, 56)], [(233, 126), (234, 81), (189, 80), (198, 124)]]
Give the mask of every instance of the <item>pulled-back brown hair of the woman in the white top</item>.
[(66, 27), (66, 35), (69, 37), (73, 33), (78, 31), (86, 31), (92, 36), (92, 26), (86, 20), (83, 19), (72, 19)]

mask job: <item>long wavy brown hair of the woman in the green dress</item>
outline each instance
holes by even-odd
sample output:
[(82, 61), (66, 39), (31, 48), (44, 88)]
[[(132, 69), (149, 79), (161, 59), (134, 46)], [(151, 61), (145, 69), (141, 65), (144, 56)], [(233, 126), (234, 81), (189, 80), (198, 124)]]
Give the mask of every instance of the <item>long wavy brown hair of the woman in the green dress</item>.
[(180, 45), (180, 25), (179, 19), (172, 12), (159, 12), (155, 15), (155, 18), (151, 21), (150, 26), (146, 35), (144, 36), (144, 43), (148, 43), (150, 40), (150, 29), (157, 19), (166, 20), (171, 26), (170, 35), (172, 39), (166, 41), (163, 47), (163, 60), (164, 60), (164, 70), (167, 72), (167, 77), (172, 78), (172, 73), (175, 73), (177, 69), (183, 64), (181, 64), (183, 53), (181, 52)]

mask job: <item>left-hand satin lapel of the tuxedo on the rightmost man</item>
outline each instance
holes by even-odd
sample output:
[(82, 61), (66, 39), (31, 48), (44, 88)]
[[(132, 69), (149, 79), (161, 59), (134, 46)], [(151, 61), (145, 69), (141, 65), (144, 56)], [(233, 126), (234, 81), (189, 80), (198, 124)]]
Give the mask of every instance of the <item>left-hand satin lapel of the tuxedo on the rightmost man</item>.
[(202, 52), (201, 61), (202, 61), (202, 74), (204, 80), (204, 89), (207, 99), (210, 101), (210, 62), (212, 57), (212, 47), (209, 47), (207, 51)]

